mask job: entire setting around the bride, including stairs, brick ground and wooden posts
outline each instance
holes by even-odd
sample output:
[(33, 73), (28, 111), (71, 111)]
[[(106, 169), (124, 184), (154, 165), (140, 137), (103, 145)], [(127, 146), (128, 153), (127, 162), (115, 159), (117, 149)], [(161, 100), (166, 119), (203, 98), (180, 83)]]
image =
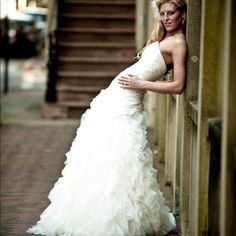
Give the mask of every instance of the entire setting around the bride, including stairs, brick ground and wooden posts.
[[(233, 236), (236, 1), (186, 2), (184, 93), (148, 93), (154, 166), (173, 235)], [(135, 62), (154, 19), (149, 0), (0, 4), (1, 235), (20, 236), (47, 206), (81, 114)]]

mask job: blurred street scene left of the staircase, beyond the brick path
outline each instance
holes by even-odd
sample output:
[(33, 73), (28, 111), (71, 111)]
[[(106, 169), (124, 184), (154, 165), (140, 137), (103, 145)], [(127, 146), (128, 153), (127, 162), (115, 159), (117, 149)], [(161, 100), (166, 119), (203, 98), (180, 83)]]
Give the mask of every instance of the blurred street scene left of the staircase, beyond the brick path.
[(1, 120), (40, 118), (47, 1), (1, 0), (0, 10)]

